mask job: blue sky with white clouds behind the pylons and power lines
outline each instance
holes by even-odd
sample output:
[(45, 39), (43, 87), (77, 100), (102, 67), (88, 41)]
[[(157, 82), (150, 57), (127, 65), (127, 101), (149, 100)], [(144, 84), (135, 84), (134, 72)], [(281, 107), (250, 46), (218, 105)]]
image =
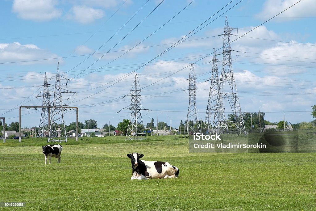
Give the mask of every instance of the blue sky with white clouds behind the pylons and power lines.
[[(64, 94), (64, 102), (79, 107), (79, 121), (94, 119), (102, 126), (110, 121), (116, 126), (129, 119), (129, 110), (120, 110), (131, 103), (125, 95), (130, 94), (137, 74), (143, 107), (150, 110), (143, 112), (144, 123), (151, 118), (156, 123), (158, 117), (169, 124), (171, 118), (172, 126), (177, 127), (186, 119), (189, 96), (185, 90), (194, 63), (198, 117), (204, 120), (209, 62), (213, 49), (223, 45), (223, 37), (217, 35), (223, 34), (228, 16), (229, 26), (236, 28), (231, 37), (235, 40), (231, 43), (235, 50), (232, 66), (242, 112), (258, 112), (260, 107), (268, 121), (283, 120), (282, 110), (291, 123), (312, 121), (311, 106), (316, 104), (315, 1), (146, 2), (0, 1), (0, 116), (9, 124), (18, 121), (20, 106), (40, 106), (36, 96), (42, 91), (38, 86), (44, 83), (44, 72), (54, 78), (59, 62), (61, 74), (70, 79), (64, 88), (77, 92), (69, 100), (70, 95)], [(157, 57), (195, 28), (201, 30)], [(51, 83), (52, 89), (54, 81)], [(39, 110), (22, 109), (22, 127), (38, 126), (40, 114)], [(73, 121), (75, 114), (67, 112), (65, 124)]]

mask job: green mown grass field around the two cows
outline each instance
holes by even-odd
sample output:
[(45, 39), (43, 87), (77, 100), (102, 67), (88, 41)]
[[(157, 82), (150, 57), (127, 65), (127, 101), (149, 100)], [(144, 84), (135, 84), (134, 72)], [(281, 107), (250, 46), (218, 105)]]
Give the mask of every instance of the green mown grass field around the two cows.
[[(188, 140), (174, 136), (79, 138), (62, 143), (61, 164), (45, 165), (44, 145), (0, 144), (0, 202), (26, 202), (16, 210), (316, 210), (316, 153), (189, 153)], [(130, 152), (177, 166), (179, 178), (130, 180)]]

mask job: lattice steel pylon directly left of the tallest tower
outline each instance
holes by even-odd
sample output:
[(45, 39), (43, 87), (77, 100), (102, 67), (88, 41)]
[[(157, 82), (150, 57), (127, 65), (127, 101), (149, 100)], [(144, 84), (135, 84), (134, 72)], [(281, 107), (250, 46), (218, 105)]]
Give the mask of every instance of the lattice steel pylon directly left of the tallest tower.
[(209, 100), (207, 101), (206, 107), (206, 115), (204, 121), (204, 133), (207, 131), (208, 133), (212, 133), (211, 127), (214, 123), (215, 118), (215, 110), (216, 110), (216, 103), (217, 103), (217, 95), (219, 92), (219, 78), (218, 78), (218, 67), (217, 67), (217, 58), (216, 58), (216, 49), (214, 48), (214, 54), (212, 59), (212, 71), (209, 72), (211, 77), (209, 80), (211, 83), (210, 86), (210, 94)]

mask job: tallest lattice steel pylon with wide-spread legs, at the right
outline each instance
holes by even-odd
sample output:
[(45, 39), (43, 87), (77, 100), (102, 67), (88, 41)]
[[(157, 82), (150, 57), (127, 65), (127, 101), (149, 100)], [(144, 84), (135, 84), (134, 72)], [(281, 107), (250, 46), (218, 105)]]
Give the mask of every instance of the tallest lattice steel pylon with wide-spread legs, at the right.
[[(217, 95), (217, 103), (215, 109), (215, 121), (213, 128), (217, 128), (218, 133), (229, 133), (229, 128), (231, 132), (237, 134), (246, 134), (244, 119), (241, 113), (240, 104), (237, 97), (236, 83), (232, 68), (232, 49), (230, 47), (230, 33), (234, 28), (228, 27), (227, 16), (225, 20), (224, 28), (224, 42), (223, 42), (223, 64), (221, 78), (219, 81), (219, 93)], [(229, 102), (230, 108), (232, 110), (232, 116), (230, 120), (225, 119), (225, 108), (224, 108), (224, 98)]]

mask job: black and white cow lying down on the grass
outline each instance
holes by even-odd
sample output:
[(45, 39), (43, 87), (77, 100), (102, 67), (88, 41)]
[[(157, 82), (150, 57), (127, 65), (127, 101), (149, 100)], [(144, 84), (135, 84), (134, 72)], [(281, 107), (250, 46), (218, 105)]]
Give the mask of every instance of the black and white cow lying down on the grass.
[(127, 154), (132, 162), (133, 179), (177, 178), (179, 169), (167, 162), (140, 160), (144, 155), (136, 152)]

